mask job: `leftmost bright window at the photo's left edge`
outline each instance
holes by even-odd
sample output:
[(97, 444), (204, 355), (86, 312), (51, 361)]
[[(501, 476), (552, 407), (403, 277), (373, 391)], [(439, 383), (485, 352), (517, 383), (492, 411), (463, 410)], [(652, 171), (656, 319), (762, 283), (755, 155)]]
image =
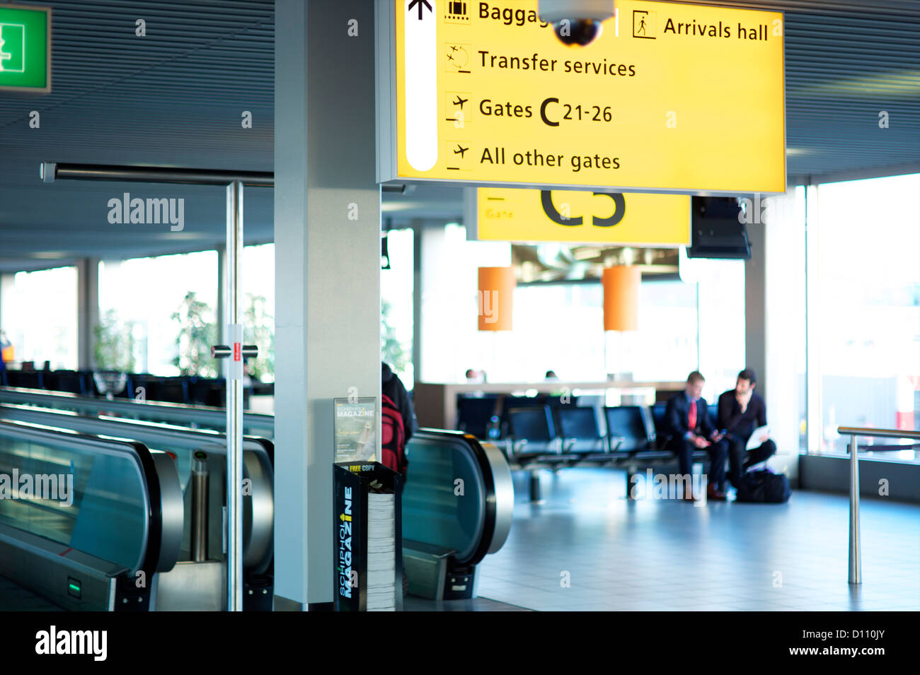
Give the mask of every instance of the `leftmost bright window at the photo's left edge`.
[(76, 368), (76, 267), (17, 272), (4, 286), (0, 328), (15, 345), (14, 365)]

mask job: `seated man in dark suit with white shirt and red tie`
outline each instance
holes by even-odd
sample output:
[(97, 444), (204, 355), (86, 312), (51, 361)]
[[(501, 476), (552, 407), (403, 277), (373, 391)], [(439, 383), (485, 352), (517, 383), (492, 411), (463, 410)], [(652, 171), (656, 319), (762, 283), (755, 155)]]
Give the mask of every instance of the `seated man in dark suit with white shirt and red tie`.
[[(725, 457), (728, 447), (722, 437), (712, 428), (706, 399), (700, 397), (706, 378), (699, 371), (687, 377), (687, 386), (681, 393), (668, 401), (664, 419), (671, 433), (670, 447), (680, 462), (681, 473), (690, 476), (693, 470), (693, 454), (698, 448), (707, 448), (711, 467), (707, 485), (707, 499), (724, 500), (725, 492), (719, 487), (725, 480)], [(700, 495), (684, 495), (685, 500), (699, 499)]]

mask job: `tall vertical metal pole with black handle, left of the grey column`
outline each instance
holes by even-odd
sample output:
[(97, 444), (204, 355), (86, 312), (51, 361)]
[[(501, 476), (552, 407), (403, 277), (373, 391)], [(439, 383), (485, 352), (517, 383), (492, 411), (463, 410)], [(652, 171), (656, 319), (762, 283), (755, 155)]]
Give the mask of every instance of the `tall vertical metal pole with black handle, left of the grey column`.
[(231, 355), (226, 373), (227, 611), (243, 610), (243, 325), (239, 322), (239, 268), (243, 255), (243, 183), (227, 186), (224, 298)]

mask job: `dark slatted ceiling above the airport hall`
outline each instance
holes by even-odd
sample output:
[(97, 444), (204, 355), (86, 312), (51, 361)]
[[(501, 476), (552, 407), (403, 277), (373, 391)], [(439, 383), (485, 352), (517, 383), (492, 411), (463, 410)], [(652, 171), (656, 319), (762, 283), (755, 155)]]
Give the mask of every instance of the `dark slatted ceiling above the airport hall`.
[[(108, 183), (43, 185), (40, 162), (271, 171), (273, 0), (52, 6), (52, 93), (0, 94), (0, 271), (179, 253), (224, 238), (224, 191)], [(920, 171), (920, 2), (711, 2), (786, 11), (788, 174), (793, 182)], [(135, 35), (135, 20), (146, 36)], [(735, 86), (739, 83), (710, 83)], [(29, 112), (40, 129), (29, 129)], [(242, 129), (248, 110), (253, 128)], [(879, 128), (879, 113), (889, 115)], [(752, 158), (751, 161), (756, 161)], [(893, 167), (893, 168), (892, 168)], [(108, 201), (185, 199), (185, 227), (113, 225)], [(462, 192), (385, 194), (385, 216), (459, 219)], [(247, 242), (272, 239), (272, 191), (248, 188)], [(49, 262), (52, 261), (52, 262)]]

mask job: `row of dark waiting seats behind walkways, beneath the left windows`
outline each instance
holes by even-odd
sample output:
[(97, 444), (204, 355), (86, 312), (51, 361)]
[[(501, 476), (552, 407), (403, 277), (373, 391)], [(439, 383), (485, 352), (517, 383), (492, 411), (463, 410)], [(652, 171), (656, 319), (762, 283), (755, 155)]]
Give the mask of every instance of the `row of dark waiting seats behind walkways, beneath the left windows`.
[[(223, 406), (226, 380), (223, 377), (159, 377), (148, 373), (128, 373), (125, 387), (114, 396), (119, 399), (149, 399), (185, 405)], [(4, 370), (0, 385), (49, 391), (64, 391), (78, 396), (105, 396), (91, 370)], [(249, 394), (244, 389), (244, 396)]]

